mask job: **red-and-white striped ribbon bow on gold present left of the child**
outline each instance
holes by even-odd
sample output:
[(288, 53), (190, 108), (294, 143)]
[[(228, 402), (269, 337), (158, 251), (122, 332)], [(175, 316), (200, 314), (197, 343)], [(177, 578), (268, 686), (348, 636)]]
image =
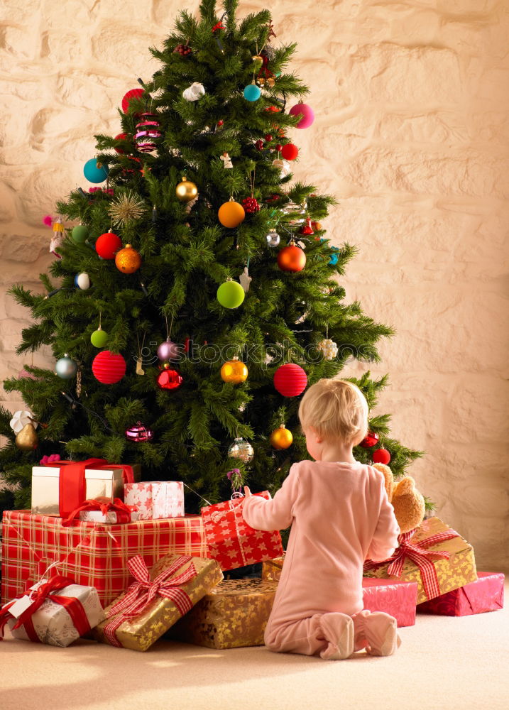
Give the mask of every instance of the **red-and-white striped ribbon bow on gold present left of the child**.
[(196, 577), (195, 566), (191, 564), (185, 572), (177, 574), (191, 559), (191, 555), (180, 555), (170, 567), (163, 569), (163, 572), (160, 572), (153, 581), (150, 579), (148, 567), (141, 555), (128, 559), (129, 572), (131, 572), (136, 581), (128, 588), (126, 595), (111, 606), (106, 613), (107, 618), (116, 617), (104, 627), (104, 634), (111, 645), (121, 647), (120, 641), (116, 638), (116, 630), (124, 621), (129, 621), (129, 619), (143, 613), (156, 596), (171, 599), (182, 616), (192, 609), (192, 601), (187, 592), (180, 589), (180, 585)]

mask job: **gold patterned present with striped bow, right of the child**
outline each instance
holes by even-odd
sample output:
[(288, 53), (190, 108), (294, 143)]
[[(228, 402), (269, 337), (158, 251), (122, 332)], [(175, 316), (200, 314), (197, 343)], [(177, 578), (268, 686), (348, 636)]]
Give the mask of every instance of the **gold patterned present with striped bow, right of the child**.
[(400, 546), (384, 562), (366, 559), (364, 577), (417, 582), (417, 604), (477, 579), (474, 550), (461, 535), (428, 518), (398, 536)]

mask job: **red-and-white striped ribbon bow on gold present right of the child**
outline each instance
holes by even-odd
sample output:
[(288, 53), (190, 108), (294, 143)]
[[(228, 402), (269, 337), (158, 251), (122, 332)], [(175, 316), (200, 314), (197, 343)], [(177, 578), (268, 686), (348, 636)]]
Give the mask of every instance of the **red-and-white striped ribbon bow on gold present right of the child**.
[(398, 535), (400, 546), (393, 555), (383, 560), (383, 562), (373, 562), (372, 559), (366, 559), (366, 562), (364, 562), (364, 572), (368, 572), (370, 569), (378, 569), (378, 567), (383, 567), (384, 564), (389, 563), (387, 574), (390, 577), (400, 577), (406, 560), (411, 559), (419, 568), (422, 586), (424, 587), (427, 599), (434, 599), (435, 596), (439, 596), (442, 592), (440, 591), (437, 570), (434, 569), (432, 559), (449, 559), (450, 552), (447, 550), (427, 550), (427, 547), (438, 545), (439, 542), (451, 540), (453, 537), (459, 537), (459, 535), (455, 530), (447, 530), (437, 532), (435, 535), (427, 537), (426, 540), (419, 540), (419, 542), (412, 543), (410, 540), (413, 535), (415, 535), (415, 530), (402, 532)]

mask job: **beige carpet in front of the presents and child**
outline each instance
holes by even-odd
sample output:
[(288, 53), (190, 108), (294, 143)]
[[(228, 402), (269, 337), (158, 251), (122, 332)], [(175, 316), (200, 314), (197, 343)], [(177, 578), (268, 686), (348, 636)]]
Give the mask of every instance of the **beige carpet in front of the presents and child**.
[[(506, 599), (508, 583), (505, 586)], [(509, 708), (509, 611), (417, 615), (397, 655), (345, 661), (162, 641), (146, 653), (80, 640), (0, 644), (1, 710)]]

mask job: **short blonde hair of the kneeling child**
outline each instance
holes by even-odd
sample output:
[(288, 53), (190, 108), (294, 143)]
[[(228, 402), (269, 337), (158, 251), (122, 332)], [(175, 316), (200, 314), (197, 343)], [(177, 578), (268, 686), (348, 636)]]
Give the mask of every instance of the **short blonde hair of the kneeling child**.
[(327, 441), (356, 446), (368, 433), (368, 403), (351, 382), (319, 380), (302, 397), (299, 419), (302, 429), (311, 426)]

